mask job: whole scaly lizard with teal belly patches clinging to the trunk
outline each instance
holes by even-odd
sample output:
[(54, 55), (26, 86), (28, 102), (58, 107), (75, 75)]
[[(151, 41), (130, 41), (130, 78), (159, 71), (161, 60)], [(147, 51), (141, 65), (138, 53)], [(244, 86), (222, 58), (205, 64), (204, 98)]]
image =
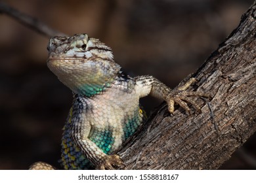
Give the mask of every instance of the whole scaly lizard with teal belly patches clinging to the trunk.
[[(195, 78), (171, 90), (154, 76), (126, 75), (114, 61), (112, 49), (85, 33), (52, 37), (47, 50), (47, 66), (74, 95), (62, 135), (60, 162), (64, 169), (123, 167), (123, 161), (113, 152), (142, 125), (141, 97), (163, 99), (170, 113), (175, 104), (191, 113), (188, 103), (200, 111), (193, 97), (209, 97), (186, 90)], [(37, 162), (30, 169), (54, 167)]]

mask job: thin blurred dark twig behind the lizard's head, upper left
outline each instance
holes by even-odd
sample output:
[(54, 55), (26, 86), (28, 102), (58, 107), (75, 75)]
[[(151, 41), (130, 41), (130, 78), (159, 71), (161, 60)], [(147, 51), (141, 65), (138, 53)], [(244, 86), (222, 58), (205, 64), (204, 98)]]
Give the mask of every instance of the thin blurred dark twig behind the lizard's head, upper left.
[(28, 16), (27, 14), (24, 14), (22, 12), (19, 12), (18, 10), (10, 7), (9, 5), (3, 2), (0, 2), (0, 13), (7, 14), (12, 18), (14, 18), (15, 20), (18, 20), (18, 22), (30, 27), (34, 31), (37, 31), (38, 33), (41, 33), (48, 37), (67, 36), (64, 33), (61, 33), (59, 31), (56, 31), (48, 27), (46, 24), (44, 24), (43, 22), (40, 22), (36, 18), (33, 18), (32, 16)]

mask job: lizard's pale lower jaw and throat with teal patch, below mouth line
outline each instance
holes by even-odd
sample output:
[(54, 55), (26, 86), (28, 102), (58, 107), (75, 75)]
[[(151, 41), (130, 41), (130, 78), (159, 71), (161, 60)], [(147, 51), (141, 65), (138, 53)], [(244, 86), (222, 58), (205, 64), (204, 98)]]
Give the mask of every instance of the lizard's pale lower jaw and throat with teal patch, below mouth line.
[[(49, 69), (76, 94), (92, 97), (112, 86), (119, 73), (114, 62), (68, 59), (48, 59)], [(119, 66), (119, 65), (117, 65)], [(114, 69), (113, 69), (114, 68)]]

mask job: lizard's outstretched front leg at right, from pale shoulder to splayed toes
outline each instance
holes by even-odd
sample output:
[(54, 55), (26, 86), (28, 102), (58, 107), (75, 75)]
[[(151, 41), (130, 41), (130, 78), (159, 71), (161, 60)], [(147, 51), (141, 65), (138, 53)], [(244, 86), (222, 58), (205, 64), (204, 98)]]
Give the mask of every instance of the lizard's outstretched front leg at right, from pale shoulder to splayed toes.
[(139, 93), (140, 97), (145, 97), (146, 95), (152, 95), (163, 99), (167, 102), (169, 112), (174, 112), (175, 103), (179, 104), (182, 108), (190, 114), (191, 110), (188, 107), (187, 103), (192, 104), (196, 110), (200, 111), (200, 107), (194, 102), (191, 96), (199, 97), (209, 97), (209, 95), (203, 92), (188, 92), (186, 89), (194, 82), (195, 78), (190, 78), (188, 82), (184, 85), (179, 86), (175, 90), (167, 87), (165, 84), (160, 82), (158, 79), (153, 76), (138, 76), (135, 78), (136, 81), (136, 92)]

